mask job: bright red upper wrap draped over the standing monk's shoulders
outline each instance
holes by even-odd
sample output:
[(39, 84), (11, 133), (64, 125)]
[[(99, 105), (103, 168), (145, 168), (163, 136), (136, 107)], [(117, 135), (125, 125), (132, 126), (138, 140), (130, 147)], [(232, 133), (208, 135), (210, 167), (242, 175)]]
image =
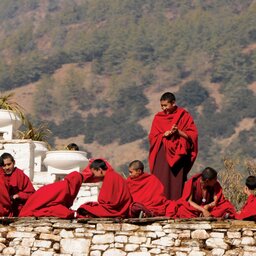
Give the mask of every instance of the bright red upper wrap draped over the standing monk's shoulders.
[[(174, 121), (175, 120), (175, 121)], [(163, 134), (171, 130), (173, 121), (178, 129), (185, 132), (190, 140), (181, 136), (163, 137)], [(188, 172), (192, 167), (198, 153), (198, 132), (191, 115), (183, 108), (178, 107), (174, 113), (166, 114), (164, 111), (158, 112), (152, 122), (149, 133), (149, 166), (151, 172), (154, 170), (156, 155), (160, 149), (161, 143), (164, 145), (165, 158), (170, 167), (173, 167), (182, 156), (189, 155), (189, 163), (186, 164)]]

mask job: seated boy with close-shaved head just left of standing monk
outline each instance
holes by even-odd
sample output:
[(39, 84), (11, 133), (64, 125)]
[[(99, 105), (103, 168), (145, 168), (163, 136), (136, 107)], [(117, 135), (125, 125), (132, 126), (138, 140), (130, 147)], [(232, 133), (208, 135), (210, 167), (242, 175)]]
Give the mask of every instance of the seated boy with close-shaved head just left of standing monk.
[(139, 217), (136, 210), (138, 205), (146, 208), (146, 210), (140, 209), (145, 217), (175, 215), (176, 203), (167, 200), (164, 187), (155, 175), (144, 173), (144, 165), (141, 161), (134, 160), (129, 164), (129, 174), (127, 184), (133, 199), (131, 217)]

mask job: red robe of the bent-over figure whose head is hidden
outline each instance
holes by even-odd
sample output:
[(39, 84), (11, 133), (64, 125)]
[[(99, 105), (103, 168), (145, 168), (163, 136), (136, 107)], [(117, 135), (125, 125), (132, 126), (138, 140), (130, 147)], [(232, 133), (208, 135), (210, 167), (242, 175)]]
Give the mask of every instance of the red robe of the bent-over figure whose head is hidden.
[(83, 176), (69, 173), (64, 180), (39, 188), (22, 208), (19, 217), (58, 217), (70, 219), (75, 211), (69, 209), (79, 192)]

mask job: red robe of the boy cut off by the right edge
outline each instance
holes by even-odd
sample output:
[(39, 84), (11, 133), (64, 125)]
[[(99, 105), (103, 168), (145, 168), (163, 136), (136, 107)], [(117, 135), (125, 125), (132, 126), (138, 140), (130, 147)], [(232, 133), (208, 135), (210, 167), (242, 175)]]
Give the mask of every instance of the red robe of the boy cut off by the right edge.
[(256, 221), (256, 196), (250, 195), (247, 198), (246, 203), (242, 207), (240, 213), (236, 213), (235, 218), (237, 220), (254, 220)]

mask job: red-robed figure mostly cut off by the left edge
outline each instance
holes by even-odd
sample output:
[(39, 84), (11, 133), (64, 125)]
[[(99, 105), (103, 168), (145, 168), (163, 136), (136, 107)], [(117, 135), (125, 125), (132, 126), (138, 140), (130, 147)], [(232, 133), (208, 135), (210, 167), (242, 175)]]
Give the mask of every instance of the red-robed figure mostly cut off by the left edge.
[(0, 157), (0, 217), (8, 217), (11, 211), (11, 199), (4, 179), (3, 165), (4, 161)]

